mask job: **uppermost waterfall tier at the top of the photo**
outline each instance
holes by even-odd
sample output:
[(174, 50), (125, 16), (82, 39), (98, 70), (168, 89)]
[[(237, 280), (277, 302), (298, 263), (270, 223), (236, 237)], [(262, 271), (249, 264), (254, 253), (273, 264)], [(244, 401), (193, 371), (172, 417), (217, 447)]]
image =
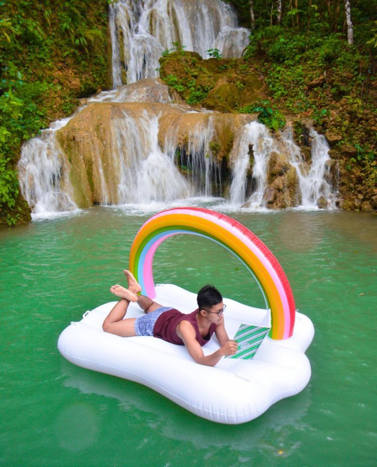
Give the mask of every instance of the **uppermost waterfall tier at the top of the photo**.
[[(119, 0), (110, 5), (113, 86), (158, 76), (158, 59), (179, 44), (198, 52), (218, 48), (224, 58), (239, 57), (250, 31), (220, 0)], [(211, 18), (211, 21), (209, 19)]]

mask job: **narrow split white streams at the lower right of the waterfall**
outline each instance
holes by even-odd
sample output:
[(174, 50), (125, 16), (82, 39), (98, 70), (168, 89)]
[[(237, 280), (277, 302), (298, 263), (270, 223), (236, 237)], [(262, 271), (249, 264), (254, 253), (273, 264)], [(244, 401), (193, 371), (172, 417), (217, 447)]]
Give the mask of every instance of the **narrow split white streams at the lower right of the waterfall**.
[[(302, 208), (317, 208), (321, 205), (333, 206), (334, 192), (328, 181), (329, 146), (326, 138), (310, 129), (311, 164), (304, 161), (299, 146), (294, 142), (292, 129), (288, 129), (272, 137), (269, 130), (258, 122), (244, 126), (230, 154), (232, 163), (232, 181), (229, 190), (229, 203), (239, 206), (244, 203), (248, 208), (266, 207), (268, 196), (267, 177), (268, 164), (272, 154), (277, 154), (285, 163), (283, 171), (292, 166), (299, 181), (299, 196)], [(250, 150), (252, 154), (250, 153)], [(250, 159), (253, 158), (251, 184), (252, 194), (246, 199), (248, 184), (247, 173)]]

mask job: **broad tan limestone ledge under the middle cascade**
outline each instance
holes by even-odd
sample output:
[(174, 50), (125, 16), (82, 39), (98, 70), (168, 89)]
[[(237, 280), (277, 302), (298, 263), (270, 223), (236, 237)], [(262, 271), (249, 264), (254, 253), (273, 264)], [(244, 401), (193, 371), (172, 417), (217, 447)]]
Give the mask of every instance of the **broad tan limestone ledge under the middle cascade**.
[(229, 155), (235, 132), (253, 118), (192, 112), (173, 104), (91, 102), (57, 132), (64, 165), (69, 167), (73, 200), (80, 208), (125, 202), (131, 199), (127, 191), (140, 190), (144, 183), (139, 181), (132, 188), (136, 182), (131, 174), (166, 168), (175, 174), (166, 175), (166, 185), (173, 178), (177, 196), (184, 196), (185, 182), (174, 172), (173, 162), (179, 165), (174, 161), (176, 155), (187, 158), (200, 152), (200, 157), (220, 167)]

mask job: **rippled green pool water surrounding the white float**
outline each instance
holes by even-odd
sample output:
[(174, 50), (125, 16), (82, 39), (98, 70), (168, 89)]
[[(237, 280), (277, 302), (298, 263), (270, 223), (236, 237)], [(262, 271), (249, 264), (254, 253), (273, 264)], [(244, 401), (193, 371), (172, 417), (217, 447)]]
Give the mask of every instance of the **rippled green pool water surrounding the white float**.
[[(215, 424), (139, 384), (76, 367), (60, 332), (113, 300), (149, 215), (96, 207), (0, 230), (0, 465), (375, 466), (376, 221), (349, 212), (230, 213), (269, 247), (314, 323), (312, 378), (256, 420)], [(195, 236), (167, 240), (155, 281), (256, 306), (263, 298), (231, 254)]]

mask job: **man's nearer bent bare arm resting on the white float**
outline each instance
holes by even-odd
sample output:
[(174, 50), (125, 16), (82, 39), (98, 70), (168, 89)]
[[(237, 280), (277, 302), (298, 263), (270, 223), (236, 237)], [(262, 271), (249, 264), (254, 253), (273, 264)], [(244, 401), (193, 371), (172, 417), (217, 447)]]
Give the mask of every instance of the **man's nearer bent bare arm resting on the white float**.
[[(177, 334), (182, 339), (187, 351), (192, 358), (201, 365), (215, 366), (216, 363), (226, 355), (233, 355), (237, 350), (237, 343), (228, 340), (220, 349), (211, 355), (204, 355), (203, 349), (196, 339), (196, 333), (193, 325), (188, 321), (182, 320), (177, 326)], [(225, 331), (225, 329), (224, 329)]]

